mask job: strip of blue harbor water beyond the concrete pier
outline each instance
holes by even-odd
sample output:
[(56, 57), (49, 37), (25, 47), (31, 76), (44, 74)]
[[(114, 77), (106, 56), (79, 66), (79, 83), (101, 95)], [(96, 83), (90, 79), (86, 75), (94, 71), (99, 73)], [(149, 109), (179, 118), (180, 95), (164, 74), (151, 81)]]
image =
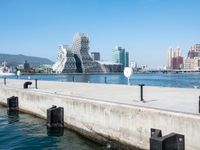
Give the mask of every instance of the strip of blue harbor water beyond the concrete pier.
[[(0, 78), (4, 78), (1, 76)], [(7, 78), (17, 78), (8, 76)], [(21, 75), (21, 79), (38, 79), (60, 82), (89, 82), (107, 84), (127, 84), (123, 74), (46, 74), (46, 75)], [(132, 85), (145, 84), (147, 86), (200, 88), (200, 73), (137, 73), (130, 82)]]

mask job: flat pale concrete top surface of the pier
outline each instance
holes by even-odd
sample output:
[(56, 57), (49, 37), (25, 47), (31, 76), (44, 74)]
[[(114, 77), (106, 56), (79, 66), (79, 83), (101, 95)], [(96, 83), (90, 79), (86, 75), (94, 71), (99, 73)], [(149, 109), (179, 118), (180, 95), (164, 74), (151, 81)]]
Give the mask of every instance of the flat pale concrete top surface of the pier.
[[(7, 79), (7, 87), (23, 89), (28, 80)], [(144, 86), (144, 102), (140, 101), (140, 87), (116, 84), (93, 84), (78, 82), (35, 81), (31, 91), (70, 95), (92, 100), (109, 101), (128, 105), (139, 105), (183, 113), (198, 114), (200, 89), (165, 88)], [(3, 87), (3, 80), (0, 81)]]

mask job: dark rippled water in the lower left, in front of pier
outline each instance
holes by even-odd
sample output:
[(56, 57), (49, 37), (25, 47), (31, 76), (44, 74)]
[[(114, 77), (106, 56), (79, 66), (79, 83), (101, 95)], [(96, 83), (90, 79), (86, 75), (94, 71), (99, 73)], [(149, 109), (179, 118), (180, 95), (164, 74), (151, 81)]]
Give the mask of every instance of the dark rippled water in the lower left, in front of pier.
[(106, 147), (67, 129), (48, 130), (45, 120), (25, 113), (11, 112), (0, 105), (0, 149), (104, 150)]

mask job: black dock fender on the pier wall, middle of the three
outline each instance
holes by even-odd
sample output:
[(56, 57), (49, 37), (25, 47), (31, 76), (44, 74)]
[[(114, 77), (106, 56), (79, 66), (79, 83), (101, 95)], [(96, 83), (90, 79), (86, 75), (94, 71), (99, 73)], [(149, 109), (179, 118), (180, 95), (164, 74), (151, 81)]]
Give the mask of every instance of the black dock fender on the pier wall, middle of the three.
[(47, 127), (64, 127), (64, 108), (52, 106), (47, 109)]

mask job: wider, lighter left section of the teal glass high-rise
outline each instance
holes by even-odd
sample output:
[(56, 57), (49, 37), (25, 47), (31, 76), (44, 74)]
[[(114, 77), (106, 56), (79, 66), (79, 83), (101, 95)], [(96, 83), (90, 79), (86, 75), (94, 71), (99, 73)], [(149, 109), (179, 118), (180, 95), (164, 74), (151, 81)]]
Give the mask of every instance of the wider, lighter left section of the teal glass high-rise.
[(123, 67), (126, 66), (125, 63), (125, 49), (122, 48), (121, 46), (116, 46), (112, 50), (112, 61), (114, 63), (120, 63), (122, 64)]

